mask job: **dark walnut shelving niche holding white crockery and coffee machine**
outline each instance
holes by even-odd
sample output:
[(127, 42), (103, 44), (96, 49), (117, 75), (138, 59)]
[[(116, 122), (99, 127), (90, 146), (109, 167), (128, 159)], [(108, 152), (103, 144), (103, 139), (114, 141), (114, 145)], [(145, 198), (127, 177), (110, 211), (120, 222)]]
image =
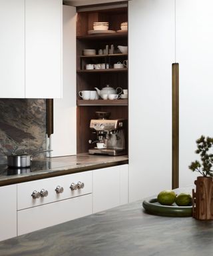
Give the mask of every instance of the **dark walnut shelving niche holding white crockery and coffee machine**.
[[(77, 153), (87, 152), (89, 139), (94, 139), (89, 129), (91, 119), (97, 118), (95, 111), (110, 111), (110, 118), (128, 119), (128, 99), (116, 100), (83, 100), (79, 91), (94, 91), (106, 85), (128, 89), (128, 69), (113, 69), (114, 63), (128, 59), (128, 54), (119, 53), (118, 45), (128, 45), (128, 33), (101, 33), (88, 35), (93, 29), (93, 22), (108, 21), (113, 31), (120, 29), (120, 23), (128, 21), (127, 1), (110, 5), (94, 5), (79, 8), (77, 13)], [(114, 54), (83, 55), (83, 49), (105, 49), (106, 45), (114, 45)], [(85, 69), (87, 64), (108, 63), (109, 69)], [(127, 138), (126, 138), (127, 139)]]

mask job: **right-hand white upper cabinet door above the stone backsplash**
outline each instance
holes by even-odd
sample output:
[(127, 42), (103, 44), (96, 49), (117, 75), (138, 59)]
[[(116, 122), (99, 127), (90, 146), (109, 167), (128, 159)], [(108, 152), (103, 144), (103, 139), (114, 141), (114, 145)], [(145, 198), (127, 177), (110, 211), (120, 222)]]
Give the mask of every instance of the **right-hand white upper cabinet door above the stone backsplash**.
[(62, 1), (25, 1), (26, 98), (60, 98)]

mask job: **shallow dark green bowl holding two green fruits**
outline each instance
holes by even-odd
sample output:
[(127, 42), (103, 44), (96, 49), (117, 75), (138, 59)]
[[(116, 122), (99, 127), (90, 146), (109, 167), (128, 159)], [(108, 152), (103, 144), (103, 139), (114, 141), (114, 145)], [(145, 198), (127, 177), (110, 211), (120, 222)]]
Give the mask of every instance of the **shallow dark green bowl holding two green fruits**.
[(192, 206), (178, 206), (176, 203), (173, 205), (160, 205), (156, 198), (148, 201), (144, 200), (142, 206), (147, 213), (168, 216), (168, 217), (191, 217)]

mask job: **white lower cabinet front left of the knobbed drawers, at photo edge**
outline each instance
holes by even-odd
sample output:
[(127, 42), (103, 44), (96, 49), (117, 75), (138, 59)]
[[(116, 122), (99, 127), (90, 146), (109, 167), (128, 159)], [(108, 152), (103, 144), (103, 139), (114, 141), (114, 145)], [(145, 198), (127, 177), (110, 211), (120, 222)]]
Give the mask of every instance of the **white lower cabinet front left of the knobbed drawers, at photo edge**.
[(17, 185), (0, 187), (0, 241), (17, 235)]

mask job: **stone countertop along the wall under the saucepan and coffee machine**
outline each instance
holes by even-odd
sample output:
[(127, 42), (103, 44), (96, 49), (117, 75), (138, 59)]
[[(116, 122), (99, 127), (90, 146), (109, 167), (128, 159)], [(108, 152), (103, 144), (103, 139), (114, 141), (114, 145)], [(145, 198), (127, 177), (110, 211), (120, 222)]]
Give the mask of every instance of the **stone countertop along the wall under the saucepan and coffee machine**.
[(0, 165), (0, 186), (123, 165), (126, 163), (128, 163), (127, 155), (110, 157), (82, 153), (68, 157), (35, 160), (32, 161), (30, 168), (8, 169), (7, 165)]

